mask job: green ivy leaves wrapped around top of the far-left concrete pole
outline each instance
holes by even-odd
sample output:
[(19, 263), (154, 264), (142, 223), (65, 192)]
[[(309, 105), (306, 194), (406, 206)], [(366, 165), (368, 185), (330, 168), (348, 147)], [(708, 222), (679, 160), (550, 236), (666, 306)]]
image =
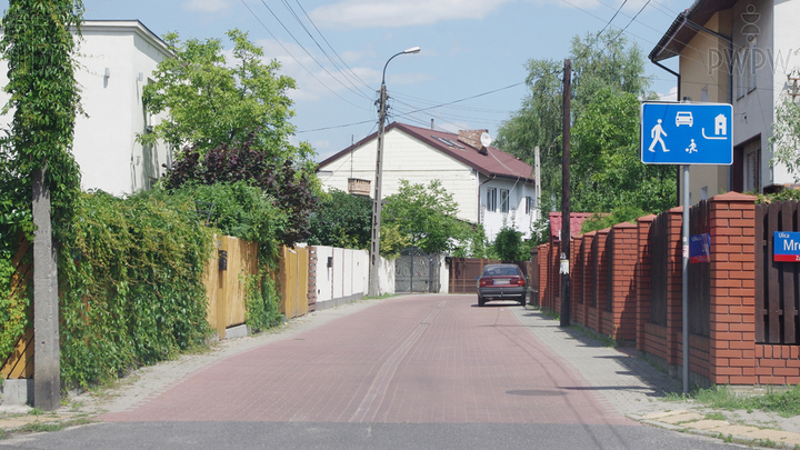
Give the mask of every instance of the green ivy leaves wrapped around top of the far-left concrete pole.
[[(10, 96), (2, 113), (12, 111), (13, 120), (0, 142), (0, 214), (27, 221), (33, 177), (43, 172), (57, 242), (80, 193), (71, 148), (76, 114), (82, 111), (70, 27), (80, 32), (82, 16), (80, 0), (11, 0), (2, 18), (0, 53), (9, 78), (3, 90)], [(30, 231), (30, 222), (21, 229)]]

